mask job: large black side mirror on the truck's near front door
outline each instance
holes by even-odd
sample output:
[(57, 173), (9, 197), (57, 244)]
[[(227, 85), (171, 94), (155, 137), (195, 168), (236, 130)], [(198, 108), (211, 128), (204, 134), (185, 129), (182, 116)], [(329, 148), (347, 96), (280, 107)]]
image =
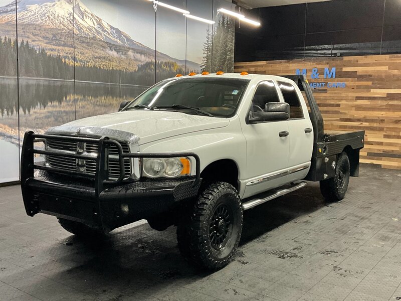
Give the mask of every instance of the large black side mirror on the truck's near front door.
[(249, 112), (249, 122), (279, 121), (290, 118), (290, 105), (284, 102), (268, 102), (265, 112)]

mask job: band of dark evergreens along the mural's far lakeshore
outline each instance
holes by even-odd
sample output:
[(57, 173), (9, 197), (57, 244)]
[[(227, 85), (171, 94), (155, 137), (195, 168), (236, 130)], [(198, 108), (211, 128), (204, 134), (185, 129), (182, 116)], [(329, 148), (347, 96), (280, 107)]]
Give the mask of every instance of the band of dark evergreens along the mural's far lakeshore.
[[(208, 34), (209, 54), (208, 65), (211, 70), (211, 40), (212, 33)], [(83, 81), (111, 82), (121, 84), (150, 85), (154, 82), (156, 72), (158, 79), (173, 77), (177, 73), (184, 73), (184, 68), (175, 62), (146, 62), (137, 67), (136, 71), (110, 69), (107, 66), (93, 66), (91, 62), (75, 63), (71, 59), (64, 59), (61, 55), (48, 54), (44, 48), (36, 49), (28, 41), (22, 40), (19, 45), (10, 37), (0, 38), (0, 75), (17, 75), (17, 47), (19, 51), (20, 76), (74, 79), (74, 64), (76, 79)], [(28, 97), (28, 96), (27, 96)], [(34, 97), (34, 96), (33, 96)]]

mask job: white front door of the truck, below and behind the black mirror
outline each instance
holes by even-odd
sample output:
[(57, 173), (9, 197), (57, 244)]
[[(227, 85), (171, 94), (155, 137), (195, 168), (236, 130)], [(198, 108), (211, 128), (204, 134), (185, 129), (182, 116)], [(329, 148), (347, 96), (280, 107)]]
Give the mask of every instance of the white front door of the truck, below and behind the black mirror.
[[(277, 84), (271, 80), (260, 82), (255, 90), (250, 111), (265, 110), (267, 102), (280, 102)], [(249, 112), (248, 112), (249, 115)], [(247, 141), (247, 168), (243, 198), (276, 187), (279, 179), (266, 178), (288, 167), (290, 141), (288, 121), (266, 121), (242, 125)], [(272, 181), (270, 181), (272, 180)]]

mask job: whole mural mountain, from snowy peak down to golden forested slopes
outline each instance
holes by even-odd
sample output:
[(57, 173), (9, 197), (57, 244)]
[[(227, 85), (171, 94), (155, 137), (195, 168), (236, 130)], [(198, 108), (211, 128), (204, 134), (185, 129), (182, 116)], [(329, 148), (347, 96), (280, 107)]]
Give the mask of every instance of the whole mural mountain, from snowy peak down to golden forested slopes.
[[(15, 10), (15, 2), (0, 7), (2, 33), (8, 36), (15, 31)], [(78, 65), (130, 72), (154, 61), (154, 49), (108, 24), (80, 0), (18, 0), (17, 13), (19, 40), (28, 40), (38, 50), (44, 48), (47, 53), (61, 55), (66, 61), (73, 59), (73, 32)], [(185, 66), (185, 60), (160, 52), (156, 57), (158, 62)], [(188, 70), (200, 69), (200, 63), (191, 61), (186, 61), (186, 66)]]

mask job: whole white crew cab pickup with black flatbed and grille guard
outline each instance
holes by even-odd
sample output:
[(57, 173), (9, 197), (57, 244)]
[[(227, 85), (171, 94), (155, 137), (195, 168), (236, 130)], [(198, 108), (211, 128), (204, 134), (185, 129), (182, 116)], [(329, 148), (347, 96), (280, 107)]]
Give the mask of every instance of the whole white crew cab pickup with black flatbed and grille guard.
[(363, 139), (323, 131), (303, 75), (179, 75), (117, 113), (27, 132), (23, 199), (29, 216), (56, 216), (76, 235), (176, 225), (182, 255), (215, 269), (238, 247), (244, 210), (304, 180), (343, 199)]

